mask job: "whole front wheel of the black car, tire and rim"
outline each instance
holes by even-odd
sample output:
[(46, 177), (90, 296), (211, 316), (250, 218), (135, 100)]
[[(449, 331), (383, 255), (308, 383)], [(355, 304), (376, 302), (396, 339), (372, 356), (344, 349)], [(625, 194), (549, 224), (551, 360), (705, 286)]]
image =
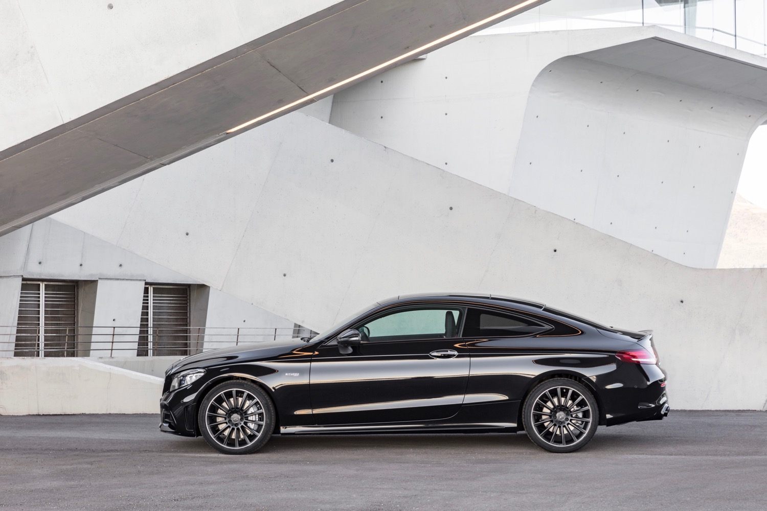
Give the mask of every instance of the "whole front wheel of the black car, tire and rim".
[(210, 447), (223, 454), (251, 454), (272, 437), (275, 405), (258, 385), (223, 382), (202, 399), (197, 424)]

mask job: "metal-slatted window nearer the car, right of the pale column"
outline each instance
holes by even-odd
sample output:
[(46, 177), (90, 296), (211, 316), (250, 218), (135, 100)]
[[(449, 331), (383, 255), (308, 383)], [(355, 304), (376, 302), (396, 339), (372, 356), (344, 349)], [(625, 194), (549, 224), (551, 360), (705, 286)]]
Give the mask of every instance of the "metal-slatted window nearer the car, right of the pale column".
[(147, 284), (137, 355), (189, 355), (188, 333), (189, 287)]

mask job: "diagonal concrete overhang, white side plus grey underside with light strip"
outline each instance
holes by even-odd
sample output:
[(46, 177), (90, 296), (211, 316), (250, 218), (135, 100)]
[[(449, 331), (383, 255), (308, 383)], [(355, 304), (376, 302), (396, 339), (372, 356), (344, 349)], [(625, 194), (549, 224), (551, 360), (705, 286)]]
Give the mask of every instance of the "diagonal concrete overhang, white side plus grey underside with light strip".
[(0, 234), (545, 1), (6, 3)]

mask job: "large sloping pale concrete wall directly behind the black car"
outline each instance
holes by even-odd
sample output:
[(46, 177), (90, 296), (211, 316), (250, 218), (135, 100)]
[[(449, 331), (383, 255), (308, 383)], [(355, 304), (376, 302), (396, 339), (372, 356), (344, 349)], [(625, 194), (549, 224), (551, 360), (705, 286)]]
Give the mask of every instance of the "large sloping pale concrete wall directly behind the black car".
[(523, 296), (654, 329), (675, 408), (767, 400), (767, 271), (673, 263), (298, 113), (56, 218), (315, 330), (400, 293)]

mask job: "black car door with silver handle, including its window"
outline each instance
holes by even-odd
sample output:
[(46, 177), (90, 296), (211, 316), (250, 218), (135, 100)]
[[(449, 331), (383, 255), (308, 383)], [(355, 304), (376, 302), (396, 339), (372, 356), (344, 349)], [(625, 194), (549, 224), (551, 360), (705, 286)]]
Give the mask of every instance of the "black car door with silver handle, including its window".
[(463, 404), (469, 353), (459, 338), (463, 310), (408, 306), (362, 320), (360, 346), (341, 354), (334, 339), (311, 359), (319, 425), (434, 421)]

